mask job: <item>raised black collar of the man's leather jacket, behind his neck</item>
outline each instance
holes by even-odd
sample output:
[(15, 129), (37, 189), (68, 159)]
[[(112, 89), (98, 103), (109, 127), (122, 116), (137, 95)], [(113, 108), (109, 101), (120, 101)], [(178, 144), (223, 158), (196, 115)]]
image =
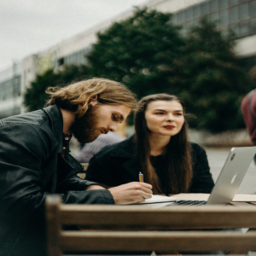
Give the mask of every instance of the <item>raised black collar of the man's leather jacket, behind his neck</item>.
[(50, 127), (58, 142), (58, 152), (63, 151), (63, 119), (61, 110), (57, 105), (52, 105), (44, 108), (44, 111), (49, 115)]

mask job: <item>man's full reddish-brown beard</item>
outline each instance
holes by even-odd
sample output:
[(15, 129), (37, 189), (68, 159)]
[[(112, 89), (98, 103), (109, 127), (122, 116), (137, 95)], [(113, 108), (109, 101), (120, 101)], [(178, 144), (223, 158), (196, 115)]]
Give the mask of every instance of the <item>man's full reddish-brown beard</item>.
[(100, 130), (106, 130), (104, 128), (99, 130), (99, 127), (96, 127), (99, 119), (96, 110), (96, 106), (90, 105), (86, 113), (80, 118), (76, 117), (71, 126), (70, 130), (73, 136), (78, 139), (79, 143), (91, 143), (100, 135)]

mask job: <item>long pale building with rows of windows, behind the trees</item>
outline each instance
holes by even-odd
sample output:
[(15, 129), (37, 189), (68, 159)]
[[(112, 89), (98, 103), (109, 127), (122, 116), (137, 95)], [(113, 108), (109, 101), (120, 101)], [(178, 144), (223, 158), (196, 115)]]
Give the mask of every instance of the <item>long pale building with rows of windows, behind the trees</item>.
[[(190, 26), (198, 23), (201, 16), (207, 15), (217, 22), (222, 32), (229, 29), (235, 32), (236, 55), (244, 67), (249, 69), (256, 64), (256, 0), (149, 0), (143, 6), (172, 13), (171, 21), (182, 26), (183, 35)], [(23, 96), (38, 73), (49, 68), (58, 70), (66, 65), (87, 64), (86, 55), (91, 44), (96, 43), (96, 33), (131, 15), (132, 9), (37, 55), (29, 55), (0, 72), (0, 119), (26, 112), (22, 105)]]

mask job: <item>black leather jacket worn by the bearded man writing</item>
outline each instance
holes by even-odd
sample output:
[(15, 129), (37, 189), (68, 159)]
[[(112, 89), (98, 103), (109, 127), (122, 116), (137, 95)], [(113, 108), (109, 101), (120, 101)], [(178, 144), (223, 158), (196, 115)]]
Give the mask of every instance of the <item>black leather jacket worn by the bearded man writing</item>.
[(64, 203), (114, 203), (108, 189), (84, 191), (76, 176), (83, 166), (63, 148), (60, 109), (0, 120), (0, 255), (45, 255), (44, 199), (58, 193)]

